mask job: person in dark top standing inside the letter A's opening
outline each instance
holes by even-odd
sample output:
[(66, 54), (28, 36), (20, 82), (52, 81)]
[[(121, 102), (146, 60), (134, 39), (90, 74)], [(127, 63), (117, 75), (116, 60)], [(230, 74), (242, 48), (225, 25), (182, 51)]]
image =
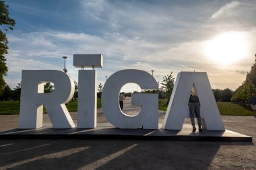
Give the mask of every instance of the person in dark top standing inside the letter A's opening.
[(195, 116), (197, 117), (197, 124), (198, 124), (199, 132), (202, 132), (201, 116), (200, 116), (200, 102), (199, 102), (197, 95), (194, 95), (192, 91), (191, 91), (191, 95), (189, 97), (189, 114), (190, 114), (191, 124), (193, 126), (193, 132), (195, 132), (195, 130), (197, 130), (195, 128)]

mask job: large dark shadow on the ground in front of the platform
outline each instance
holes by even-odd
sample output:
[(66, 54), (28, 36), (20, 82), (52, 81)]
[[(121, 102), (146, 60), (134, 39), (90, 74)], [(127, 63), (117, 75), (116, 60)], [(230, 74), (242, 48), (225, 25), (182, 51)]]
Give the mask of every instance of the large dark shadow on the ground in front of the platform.
[(252, 143), (0, 140), (0, 169), (208, 169), (222, 145)]

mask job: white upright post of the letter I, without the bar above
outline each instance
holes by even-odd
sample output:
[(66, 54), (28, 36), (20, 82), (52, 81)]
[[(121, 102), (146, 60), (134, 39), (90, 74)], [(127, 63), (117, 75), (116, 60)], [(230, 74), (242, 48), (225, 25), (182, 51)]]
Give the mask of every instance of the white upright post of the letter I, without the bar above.
[(96, 77), (94, 70), (79, 71), (78, 74), (77, 128), (96, 128), (97, 96)]

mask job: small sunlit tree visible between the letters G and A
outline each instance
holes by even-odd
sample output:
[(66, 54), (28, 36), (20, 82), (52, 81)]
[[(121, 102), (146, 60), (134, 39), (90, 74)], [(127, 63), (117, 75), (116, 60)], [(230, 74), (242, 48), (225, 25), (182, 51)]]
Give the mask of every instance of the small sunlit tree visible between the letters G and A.
[(172, 72), (170, 73), (170, 75), (166, 75), (163, 77), (161, 85), (163, 91), (166, 92), (166, 97), (168, 97), (168, 101), (166, 103), (168, 104), (170, 101), (170, 95), (172, 95), (172, 89), (174, 87), (174, 77), (172, 77)]

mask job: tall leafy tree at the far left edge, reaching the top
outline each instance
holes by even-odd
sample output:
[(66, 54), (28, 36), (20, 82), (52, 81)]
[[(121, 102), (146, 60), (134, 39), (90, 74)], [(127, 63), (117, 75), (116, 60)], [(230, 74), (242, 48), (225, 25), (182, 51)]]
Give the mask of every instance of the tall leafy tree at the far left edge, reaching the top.
[(3, 88), (5, 87), (5, 80), (3, 76), (7, 74), (7, 66), (5, 54), (7, 54), (8, 50), (8, 40), (6, 36), (6, 32), (8, 30), (13, 30), (15, 26), (15, 20), (9, 17), (8, 5), (5, 5), (4, 1), (0, 1), (0, 93), (3, 92)]

